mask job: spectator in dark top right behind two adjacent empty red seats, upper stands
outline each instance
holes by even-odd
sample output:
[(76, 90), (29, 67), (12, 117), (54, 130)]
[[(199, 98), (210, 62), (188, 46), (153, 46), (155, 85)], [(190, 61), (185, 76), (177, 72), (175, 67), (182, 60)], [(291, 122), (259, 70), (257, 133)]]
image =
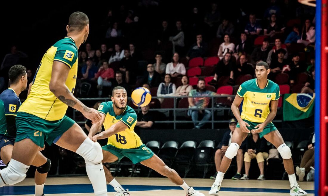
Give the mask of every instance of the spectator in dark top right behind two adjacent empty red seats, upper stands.
[(195, 57), (207, 56), (207, 43), (203, 42), (202, 34), (196, 35), (196, 43), (191, 45), (187, 52), (187, 60)]

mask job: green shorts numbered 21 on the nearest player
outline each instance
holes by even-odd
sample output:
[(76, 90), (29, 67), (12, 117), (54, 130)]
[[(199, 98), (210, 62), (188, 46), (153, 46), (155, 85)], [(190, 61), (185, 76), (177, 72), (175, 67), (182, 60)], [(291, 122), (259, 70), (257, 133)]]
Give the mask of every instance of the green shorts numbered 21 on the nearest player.
[(44, 141), (51, 145), (56, 143), (62, 134), (71, 128), (74, 123), (74, 120), (67, 116), (60, 120), (50, 121), (25, 112), (18, 112), (16, 116), (17, 134), (15, 142), (29, 138), (40, 147), (44, 147)]

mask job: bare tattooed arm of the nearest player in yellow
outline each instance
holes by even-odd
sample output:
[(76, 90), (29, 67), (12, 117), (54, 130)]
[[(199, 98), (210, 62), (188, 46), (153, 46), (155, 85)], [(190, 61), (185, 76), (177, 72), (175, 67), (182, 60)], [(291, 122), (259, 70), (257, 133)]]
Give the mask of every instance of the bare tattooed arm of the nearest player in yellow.
[(70, 72), (70, 68), (62, 62), (54, 61), (52, 64), (51, 80), (49, 90), (63, 103), (80, 111), (83, 116), (92, 120), (92, 123), (98, 122), (101, 117), (97, 110), (85, 106), (81, 101), (73, 96), (65, 82)]

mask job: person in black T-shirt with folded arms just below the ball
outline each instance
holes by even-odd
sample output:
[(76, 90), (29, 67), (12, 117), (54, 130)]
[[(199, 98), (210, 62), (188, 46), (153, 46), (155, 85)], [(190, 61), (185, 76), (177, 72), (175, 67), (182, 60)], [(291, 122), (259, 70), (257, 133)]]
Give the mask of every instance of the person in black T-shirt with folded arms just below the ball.
[(152, 111), (149, 111), (149, 105), (141, 107), (141, 112), (137, 116), (137, 124), (135, 126), (141, 129), (150, 129), (154, 125), (154, 114)]

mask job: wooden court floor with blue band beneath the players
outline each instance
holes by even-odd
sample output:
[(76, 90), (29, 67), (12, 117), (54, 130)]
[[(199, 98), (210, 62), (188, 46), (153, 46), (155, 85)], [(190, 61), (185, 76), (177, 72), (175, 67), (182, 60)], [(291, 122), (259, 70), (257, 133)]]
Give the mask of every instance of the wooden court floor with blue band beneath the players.
[[(184, 196), (185, 192), (175, 186), (166, 178), (115, 178), (124, 188), (129, 188), (132, 196)], [(204, 195), (209, 195), (211, 185), (214, 180), (211, 179), (184, 179), (189, 186), (200, 190)], [(303, 190), (308, 193), (314, 189), (313, 182), (299, 182)], [(2, 189), (2, 190), (1, 190)], [(108, 195), (113, 196), (114, 190), (108, 185)], [(85, 191), (84, 191), (85, 190)], [(47, 192), (48, 191), (48, 192)], [(75, 192), (75, 193), (73, 193)], [(27, 178), (23, 182), (18, 183), (14, 187), (0, 188), (0, 195), (33, 195), (34, 179)], [(308, 194), (309, 196), (314, 194)], [(87, 177), (52, 177), (47, 178), (45, 186), (45, 195), (59, 196), (91, 196), (92, 187)], [(289, 195), (289, 182), (287, 180), (223, 180), (220, 196), (228, 195)]]

